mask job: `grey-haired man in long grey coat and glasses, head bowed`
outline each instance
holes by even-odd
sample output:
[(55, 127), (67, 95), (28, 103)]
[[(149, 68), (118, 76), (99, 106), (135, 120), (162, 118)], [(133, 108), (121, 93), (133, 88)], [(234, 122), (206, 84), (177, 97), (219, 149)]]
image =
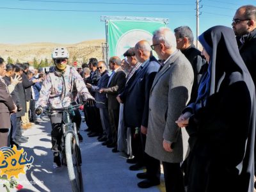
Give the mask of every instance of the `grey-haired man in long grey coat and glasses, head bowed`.
[(168, 28), (154, 32), (153, 45), (161, 67), (156, 74), (149, 98), (145, 152), (163, 163), (166, 191), (184, 191), (180, 163), (183, 161), (182, 133), (175, 124), (185, 108), (193, 86), (193, 68), (176, 49), (175, 35)]

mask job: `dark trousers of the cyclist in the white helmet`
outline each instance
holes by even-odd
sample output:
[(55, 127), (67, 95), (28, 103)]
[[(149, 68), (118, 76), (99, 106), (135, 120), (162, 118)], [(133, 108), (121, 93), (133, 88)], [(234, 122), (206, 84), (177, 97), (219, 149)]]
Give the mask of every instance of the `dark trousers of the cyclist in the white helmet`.
[[(77, 131), (79, 132), (79, 127), (81, 125), (81, 115), (79, 110), (74, 110), (75, 115), (70, 116), (72, 122), (76, 122)], [(56, 113), (50, 116), (52, 131), (52, 148), (53, 152), (60, 152), (63, 150), (63, 146), (61, 146), (61, 137), (62, 137), (62, 129), (61, 129), (61, 122), (62, 122), (62, 113)]]

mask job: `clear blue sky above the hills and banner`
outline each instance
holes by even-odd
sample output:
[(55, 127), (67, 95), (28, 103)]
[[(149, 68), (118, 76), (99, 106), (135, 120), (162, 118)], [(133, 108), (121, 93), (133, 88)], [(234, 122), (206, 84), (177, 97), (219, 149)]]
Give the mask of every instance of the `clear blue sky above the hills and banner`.
[[(0, 44), (70, 44), (105, 38), (100, 15), (168, 18), (169, 28), (188, 25), (195, 36), (195, 1), (0, 0)], [(244, 4), (255, 5), (256, 0), (202, 0), (200, 33), (216, 25), (231, 26), (236, 9)]]

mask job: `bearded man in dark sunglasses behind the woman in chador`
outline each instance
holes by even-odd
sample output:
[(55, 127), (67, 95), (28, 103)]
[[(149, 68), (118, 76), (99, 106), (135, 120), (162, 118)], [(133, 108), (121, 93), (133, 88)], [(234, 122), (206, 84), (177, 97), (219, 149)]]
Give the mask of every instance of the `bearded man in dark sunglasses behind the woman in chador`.
[(256, 84), (256, 6), (244, 5), (238, 8), (232, 27), (237, 36), (239, 52)]

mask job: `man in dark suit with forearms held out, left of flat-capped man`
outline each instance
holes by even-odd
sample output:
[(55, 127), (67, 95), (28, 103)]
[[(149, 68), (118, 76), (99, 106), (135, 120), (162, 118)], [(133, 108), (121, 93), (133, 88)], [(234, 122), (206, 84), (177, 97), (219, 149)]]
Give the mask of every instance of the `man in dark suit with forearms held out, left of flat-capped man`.
[(111, 127), (112, 140), (109, 140), (107, 147), (113, 148), (113, 152), (117, 151), (117, 131), (119, 121), (119, 107), (120, 104), (116, 100), (116, 96), (122, 93), (125, 86), (125, 72), (121, 68), (121, 60), (118, 56), (113, 56), (109, 59), (109, 68), (112, 74), (109, 77), (107, 88), (102, 88), (99, 93), (107, 93), (108, 97), (108, 112), (109, 123)]

